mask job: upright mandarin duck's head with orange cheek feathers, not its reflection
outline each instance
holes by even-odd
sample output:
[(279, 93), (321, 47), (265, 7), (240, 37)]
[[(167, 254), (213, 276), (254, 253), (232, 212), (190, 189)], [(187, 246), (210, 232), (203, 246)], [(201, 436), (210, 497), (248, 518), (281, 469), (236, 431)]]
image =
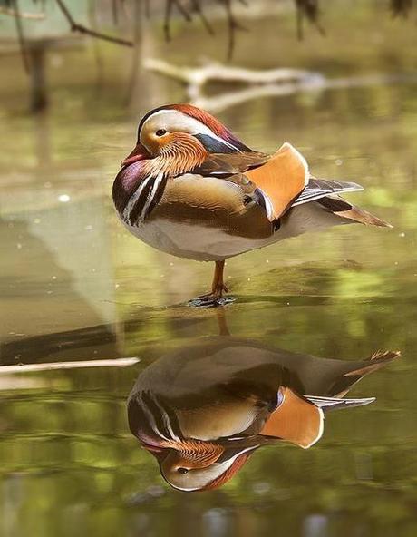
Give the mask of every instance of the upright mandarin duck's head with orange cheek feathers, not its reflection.
[(168, 104), (141, 119), (136, 147), (121, 166), (160, 157), (175, 173), (198, 165), (209, 153), (241, 151), (250, 149), (208, 112), (191, 104)]

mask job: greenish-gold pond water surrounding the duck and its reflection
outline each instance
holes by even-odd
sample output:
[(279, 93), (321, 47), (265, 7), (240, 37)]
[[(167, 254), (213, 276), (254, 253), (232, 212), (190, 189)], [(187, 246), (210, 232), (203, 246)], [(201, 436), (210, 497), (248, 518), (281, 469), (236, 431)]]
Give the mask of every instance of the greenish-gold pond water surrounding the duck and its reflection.
[[(402, 73), (410, 67), (402, 40), (415, 44), (414, 27), (395, 32), (390, 44), (374, 36), (373, 54), (365, 39), (353, 40), (352, 61), (344, 49), (332, 63), (329, 49), (342, 46), (335, 27), (313, 64), (287, 30), (286, 64), (329, 76)], [(172, 58), (183, 44), (179, 36)], [(108, 73), (117, 72), (121, 53), (105, 51)], [(63, 54), (69, 73), (82, 54)], [(262, 58), (274, 64), (272, 50)], [(212, 267), (150, 249), (116, 219), (112, 178), (145, 104), (127, 112), (122, 83), (97, 95), (93, 82), (65, 87), (54, 77), (50, 112), (22, 112), (21, 74), (0, 108), (1, 364), (140, 362), (0, 372), (0, 535), (415, 535), (416, 85), (262, 98), (218, 113), (255, 148), (288, 140), (316, 175), (360, 182), (364, 192), (349, 199), (394, 226), (330, 229), (230, 259), (229, 332), (320, 357), (354, 360), (377, 349), (402, 357), (351, 393), (376, 402), (329, 415), (309, 450), (266, 447), (224, 487), (186, 494), (162, 481), (131, 435), (126, 399), (159, 356), (218, 335), (217, 311), (184, 306), (208, 289)], [(175, 83), (152, 80), (159, 103), (181, 99)]]

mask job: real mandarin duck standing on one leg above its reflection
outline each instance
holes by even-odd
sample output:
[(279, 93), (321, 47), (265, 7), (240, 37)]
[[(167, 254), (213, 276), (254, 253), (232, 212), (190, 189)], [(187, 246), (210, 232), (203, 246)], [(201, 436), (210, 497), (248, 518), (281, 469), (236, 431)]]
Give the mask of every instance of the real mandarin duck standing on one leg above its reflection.
[(215, 261), (211, 293), (223, 303), (225, 259), (308, 230), (360, 222), (389, 226), (339, 197), (354, 182), (313, 177), (289, 143), (253, 151), (208, 112), (190, 104), (147, 113), (121, 162), (113, 201), (121, 221), (150, 246), (179, 258)]

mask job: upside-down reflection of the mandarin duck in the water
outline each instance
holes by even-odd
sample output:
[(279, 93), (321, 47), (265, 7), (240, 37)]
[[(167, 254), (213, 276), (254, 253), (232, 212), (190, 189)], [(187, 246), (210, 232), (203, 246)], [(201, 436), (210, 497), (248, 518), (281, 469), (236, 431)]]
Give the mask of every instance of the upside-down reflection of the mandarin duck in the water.
[(373, 402), (344, 395), (399, 354), (345, 362), (204, 338), (141, 372), (128, 399), (129, 426), (172, 487), (214, 489), (259, 447), (286, 441), (308, 448), (323, 434), (325, 412)]

